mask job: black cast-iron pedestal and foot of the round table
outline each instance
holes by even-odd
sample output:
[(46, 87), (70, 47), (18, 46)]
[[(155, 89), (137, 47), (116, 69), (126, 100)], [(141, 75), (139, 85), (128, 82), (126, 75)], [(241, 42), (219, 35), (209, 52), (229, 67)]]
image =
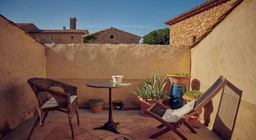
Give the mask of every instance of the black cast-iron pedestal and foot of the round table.
[(114, 132), (116, 134), (120, 134), (117, 130), (116, 130), (116, 126), (119, 123), (115, 123), (113, 121), (112, 118), (112, 101), (111, 101), (111, 89), (109, 89), (109, 113), (108, 113), (108, 122), (105, 123), (103, 126), (101, 127), (95, 127), (94, 130), (108, 130), (111, 132)]

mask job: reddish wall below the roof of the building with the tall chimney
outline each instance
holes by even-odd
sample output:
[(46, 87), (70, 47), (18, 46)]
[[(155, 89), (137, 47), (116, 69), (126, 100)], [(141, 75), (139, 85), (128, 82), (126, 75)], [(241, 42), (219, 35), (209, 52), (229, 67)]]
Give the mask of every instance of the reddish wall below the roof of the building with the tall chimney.
[[(81, 36), (83, 33), (29, 33), (31, 36), (35, 38), (37, 36), (39, 41), (43, 44), (51, 44), (51, 42), (55, 42), (55, 44), (70, 44), (71, 42), (75, 42), (75, 44), (82, 44)], [(52, 39), (51, 36), (54, 36)], [(71, 39), (73, 36), (73, 39)]]

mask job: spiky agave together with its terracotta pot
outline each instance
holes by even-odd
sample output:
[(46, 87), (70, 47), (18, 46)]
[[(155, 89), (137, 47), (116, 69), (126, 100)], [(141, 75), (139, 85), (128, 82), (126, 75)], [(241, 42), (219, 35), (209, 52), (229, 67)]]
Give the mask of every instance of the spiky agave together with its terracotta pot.
[(155, 102), (162, 103), (164, 98), (169, 98), (166, 95), (167, 91), (164, 91), (165, 84), (167, 83), (167, 82), (164, 83), (165, 78), (161, 81), (159, 75), (157, 78), (156, 74), (154, 76), (152, 73), (151, 82), (148, 82), (144, 79), (145, 84), (142, 85), (141, 88), (137, 87), (137, 90), (138, 90), (137, 92), (132, 91), (140, 99), (141, 114), (143, 116), (150, 117), (144, 113), (145, 110), (147, 110)]

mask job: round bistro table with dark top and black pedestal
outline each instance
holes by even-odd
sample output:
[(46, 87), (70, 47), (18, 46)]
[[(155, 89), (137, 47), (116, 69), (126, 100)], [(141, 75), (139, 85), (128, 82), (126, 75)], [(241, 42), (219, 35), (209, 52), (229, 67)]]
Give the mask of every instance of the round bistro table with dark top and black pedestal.
[(132, 83), (129, 82), (121, 82), (121, 83), (114, 83), (112, 80), (100, 80), (100, 81), (90, 81), (86, 85), (89, 87), (95, 87), (95, 88), (105, 88), (109, 89), (109, 113), (108, 113), (108, 122), (105, 123), (101, 127), (96, 127), (94, 130), (108, 130), (111, 132), (114, 132), (116, 134), (119, 134), (119, 132), (116, 130), (116, 125), (119, 123), (115, 123), (112, 118), (112, 105), (111, 105), (111, 89), (114, 88), (121, 88), (131, 85)]

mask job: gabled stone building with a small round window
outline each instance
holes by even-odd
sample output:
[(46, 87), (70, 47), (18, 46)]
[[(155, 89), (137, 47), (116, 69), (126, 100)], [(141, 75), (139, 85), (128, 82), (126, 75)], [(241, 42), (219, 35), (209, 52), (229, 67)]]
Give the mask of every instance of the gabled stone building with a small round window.
[(96, 39), (90, 39), (87, 42), (84, 43), (96, 43), (96, 44), (139, 44), (139, 41), (141, 39), (140, 36), (128, 33), (126, 31), (122, 31), (113, 27), (103, 29), (100, 31), (97, 31), (92, 34), (87, 34), (82, 36), (95, 36)]

